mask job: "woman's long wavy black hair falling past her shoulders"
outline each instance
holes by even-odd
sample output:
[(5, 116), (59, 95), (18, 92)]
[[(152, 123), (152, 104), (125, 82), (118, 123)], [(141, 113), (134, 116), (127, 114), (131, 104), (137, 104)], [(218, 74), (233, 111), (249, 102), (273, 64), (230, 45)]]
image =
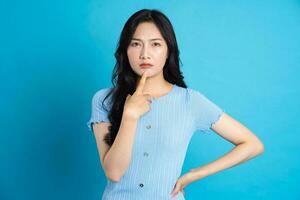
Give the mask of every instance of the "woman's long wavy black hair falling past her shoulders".
[[(123, 27), (117, 50), (114, 54), (116, 58), (116, 64), (112, 74), (112, 84), (114, 87), (104, 98), (105, 101), (112, 95), (110, 110), (105, 108), (108, 111), (108, 118), (111, 125), (108, 128), (109, 132), (104, 137), (104, 141), (109, 146), (113, 144), (118, 134), (127, 94), (132, 95), (136, 89), (138, 77), (130, 67), (127, 48), (137, 26), (142, 22), (154, 23), (167, 43), (168, 57), (163, 67), (164, 79), (177, 86), (183, 88), (187, 87), (183, 80), (184, 76), (179, 69), (179, 62), (181, 63), (179, 49), (170, 20), (157, 9), (142, 9), (134, 13)], [(104, 101), (102, 102), (102, 106), (104, 105)]]

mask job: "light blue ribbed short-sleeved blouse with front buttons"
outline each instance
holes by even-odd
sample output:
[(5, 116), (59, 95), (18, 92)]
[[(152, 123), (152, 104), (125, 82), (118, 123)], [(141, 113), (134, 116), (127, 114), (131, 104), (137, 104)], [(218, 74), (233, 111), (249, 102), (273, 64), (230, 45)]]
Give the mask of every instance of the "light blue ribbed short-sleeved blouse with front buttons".
[[(110, 88), (97, 91), (92, 98), (91, 118), (87, 122), (109, 122), (102, 100)], [(109, 104), (110, 97), (105, 105)], [(188, 144), (197, 130), (208, 132), (225, 112), (205, 95), (191, 88), (174, 85), (164, 96), (154, 98), (150, 111), (138, 121), (131, 163), (119, 182), (107, 178), (102, 200), (184, 200), (179, 192), (171, 198), (181, 176)]]

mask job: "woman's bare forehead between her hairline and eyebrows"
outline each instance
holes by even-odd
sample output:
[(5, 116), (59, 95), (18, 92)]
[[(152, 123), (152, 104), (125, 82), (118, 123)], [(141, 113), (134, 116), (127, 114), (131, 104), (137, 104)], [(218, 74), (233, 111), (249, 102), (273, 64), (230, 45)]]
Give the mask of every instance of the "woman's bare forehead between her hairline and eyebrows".
[(137, 38), (141, 40), (160, 38), (163, 40), (163, 37), (159, 29), (152, 22), (140, 23), (133, 34), (133, 38)]

